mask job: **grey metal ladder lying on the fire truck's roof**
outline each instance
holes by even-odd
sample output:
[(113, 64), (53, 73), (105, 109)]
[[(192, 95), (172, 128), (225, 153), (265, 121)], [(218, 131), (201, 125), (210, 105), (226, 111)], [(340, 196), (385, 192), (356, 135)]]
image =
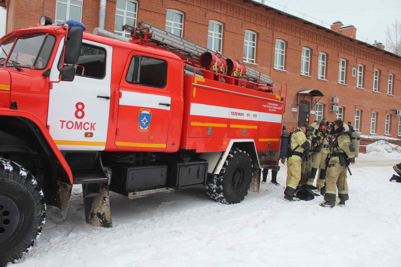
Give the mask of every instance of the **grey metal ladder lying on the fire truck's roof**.
[[(174, 52), (184, 58), (191, 60), (196, 64), (199, 61), (200, 55), (202, 55), (203, 53), (210, 52), (214, 54), (216, 52), (205, 47), (196, 45), (193, 42), (168, 33), (145, 22), (138, 23), (138, 27), (136, 28), (125, 25), (123, 27), (123, 31), (124, 30), (131, 32), (132, 37), (138, 40), (136, 42), (140, 43), (140, 39), (145, 39), (151, 44)], [(223, 56), (223, 58), (228, 59), (228, 57), (225, 56)], [(261, 73), (248, 66), (247, 72), (245, 73), (245, 75), (241, 76), (241, 79), (254, 83), (273, 86), (273, 81), (269, 75)]]

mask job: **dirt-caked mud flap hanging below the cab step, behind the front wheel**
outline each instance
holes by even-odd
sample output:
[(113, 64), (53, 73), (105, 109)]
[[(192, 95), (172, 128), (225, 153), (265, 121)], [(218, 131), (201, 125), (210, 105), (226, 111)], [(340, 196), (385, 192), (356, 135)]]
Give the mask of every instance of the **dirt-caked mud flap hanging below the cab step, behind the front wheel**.
[(103, 182), (101, 184), (100, 195), (98, 196), (88, 197), (84, 193), (84, 208), (86, 223), (94, 227), (113, 227), (111, 222), (108, 182)]

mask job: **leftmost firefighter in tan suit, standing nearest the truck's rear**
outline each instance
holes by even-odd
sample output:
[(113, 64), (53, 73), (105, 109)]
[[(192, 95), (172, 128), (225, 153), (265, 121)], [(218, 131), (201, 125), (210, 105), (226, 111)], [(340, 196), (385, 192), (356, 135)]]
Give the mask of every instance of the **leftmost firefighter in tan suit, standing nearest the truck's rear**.
[(306, 137), (306, 130), (309, 128), (307, 123), (302, 123), (301, 127), (290, 134), (288, 159), (287, 159), (287, 182), (284, 190), (284, 200), (295, 201), (295, 189), (301, 180), (301, 165), (304, 150), (311, 145), (312, 137)]

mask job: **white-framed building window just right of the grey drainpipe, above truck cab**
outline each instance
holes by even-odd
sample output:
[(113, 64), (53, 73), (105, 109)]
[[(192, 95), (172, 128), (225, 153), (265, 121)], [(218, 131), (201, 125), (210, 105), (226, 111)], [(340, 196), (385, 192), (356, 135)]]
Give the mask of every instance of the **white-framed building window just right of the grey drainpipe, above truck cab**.
[(125, 38), (130, 38), (131, 33), (122, 31), (124, 25), (136, 26), (138, 3), (136, 1), (117, 0), (116, 19), (114, 22), (114, 33)]

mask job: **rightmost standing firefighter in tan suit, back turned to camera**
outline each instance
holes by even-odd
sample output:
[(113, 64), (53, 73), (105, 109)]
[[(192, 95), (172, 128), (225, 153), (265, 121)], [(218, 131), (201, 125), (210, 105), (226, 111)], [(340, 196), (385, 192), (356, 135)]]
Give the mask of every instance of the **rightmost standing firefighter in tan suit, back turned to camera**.
[(334, 121), (334, 134), (332, 154), (327, 165), (326, 191), (323, 207), (334, 207), (336, 200), (336, 188), (338, 189), (339, 205), (345, 205), (348, 200), (347, 168), (349, 164), (355, 164), (355, 149), (351, 143), (349, 133), (344, 129), (342, 120)]

